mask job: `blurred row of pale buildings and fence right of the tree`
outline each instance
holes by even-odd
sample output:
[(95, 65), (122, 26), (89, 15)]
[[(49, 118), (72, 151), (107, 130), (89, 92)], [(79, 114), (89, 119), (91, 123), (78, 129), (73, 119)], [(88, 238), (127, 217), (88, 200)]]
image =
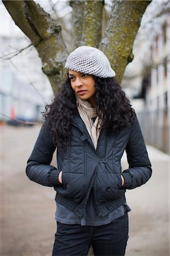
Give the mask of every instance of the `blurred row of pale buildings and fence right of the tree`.
[(164, 152), (170, 152), (169, 15), (165, 13), (157, 18), (155, 26), (149, 31), (146, 42), (138, 48), (141, 54), (134, 63), (137, 65), (137, 72), (131, 89), (127, 88), (127, 92), (130, 90), (130, 97), (133, 98), (131, 102), (137, 112), (145, 140)]

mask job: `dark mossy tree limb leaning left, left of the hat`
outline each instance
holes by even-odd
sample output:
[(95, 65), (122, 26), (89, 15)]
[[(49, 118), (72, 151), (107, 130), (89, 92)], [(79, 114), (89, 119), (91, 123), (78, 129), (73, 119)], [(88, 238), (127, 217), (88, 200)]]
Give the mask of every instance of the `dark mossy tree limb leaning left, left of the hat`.
[(58, 26), (40, 5), (34, 1), (4, 0), (15, 24), (32, 41), (42, 61), (42, 71), (48, 76), (54, 92), (58, 90), (66, 73), (64, 64), (68, 56)]

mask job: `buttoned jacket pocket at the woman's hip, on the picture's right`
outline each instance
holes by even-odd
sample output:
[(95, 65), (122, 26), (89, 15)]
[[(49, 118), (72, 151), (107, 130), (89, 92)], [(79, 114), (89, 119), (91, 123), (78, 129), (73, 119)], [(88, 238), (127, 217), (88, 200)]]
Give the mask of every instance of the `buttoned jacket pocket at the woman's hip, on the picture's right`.
[(106, 202), (124, 196), (126, 189), (121, 186), (121, 174), (97, 173), (95, 185), (97, 201)]

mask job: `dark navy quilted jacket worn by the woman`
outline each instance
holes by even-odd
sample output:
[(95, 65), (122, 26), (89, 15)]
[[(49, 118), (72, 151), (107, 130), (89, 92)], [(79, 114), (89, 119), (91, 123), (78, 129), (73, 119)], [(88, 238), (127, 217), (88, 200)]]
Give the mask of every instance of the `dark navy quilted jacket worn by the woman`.
[[(106, 216), (124, 205), (126, 189), (145, 184), (151, 177), (151, 164), (138, 119), (111, 135), (101, 131), (95, 150), (79, 114), (75, 114), (67, 146), (57, 148), (58, 168), (51, 166), (56, 147), (52, 134), (42, 126), (26, 173), (29, 179), (56, 190), (56, 202), (83, 217), (92, 187), (97, 213)], [(126, 150), (129, 168), (121, 170), (121, 158)], [(62, 170), (62, 182), (58, 182)], [(121, 187), (121, 174), (125, 184)]]

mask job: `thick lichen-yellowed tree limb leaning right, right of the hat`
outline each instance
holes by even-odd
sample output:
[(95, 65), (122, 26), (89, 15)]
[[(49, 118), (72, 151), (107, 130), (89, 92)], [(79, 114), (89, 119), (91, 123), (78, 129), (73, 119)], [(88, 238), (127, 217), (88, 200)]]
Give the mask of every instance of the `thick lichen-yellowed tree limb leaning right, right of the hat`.
[(146, 7), (151, 1), (113, 1), (100, 49), (107, 55), (121, 82), (126, 65), (133, 60), (133, 43)]

